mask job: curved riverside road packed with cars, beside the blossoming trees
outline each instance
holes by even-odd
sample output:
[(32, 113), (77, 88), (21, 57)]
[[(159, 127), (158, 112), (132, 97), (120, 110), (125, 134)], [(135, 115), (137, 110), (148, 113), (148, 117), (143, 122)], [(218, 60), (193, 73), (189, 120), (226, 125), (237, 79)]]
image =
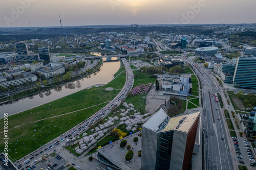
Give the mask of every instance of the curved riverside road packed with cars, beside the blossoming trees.
[[(107, 116), (111, 112), (112, 109), (114, 109), (115, 107), (120, 105), (120, 103), (126, 98), (127, 93), (132, 90), (132, 87), (134, 84), (133, 71), (130, 67), (130, 64), (127, 62), (127, 60), (125, 58), (121, 58), (121, 60), (123, 62), (125, 70), (126, 70), (126, 81), (125, 81), (123, 88), (118, 93), (118, 95), (108, 105), (106, 105), (105, 107), (100, 109), (97, 113), (92, 115), (90, 118), (88, 118), (87, 120), (84, 120), (84, 122), (75, 126), (72, 129), (70, 129), (68, 132), (65, 132), (64, 134), (60, 135), (59, 137), (53, 139), (49, 143), (45, 144), (43, 147), (34, 151), (32, 154), (29, 154), (26, 157), (18, 160), (19, 163), (17, 163), (17, 164), (22, 164), (22, 168), (24, 168), (27, 165), (32, 166), (34, 164), (33, 163), (34, 160), (38, 160), (38, 161), (42, 160), (42, 157), (45, 157), (46, 154), (49, 155), (50, 153), (53, 152), (54, 149), (56, 150), (56, 152), (60, 152), (61, 156), (64, 155), (61, 159), (69, 160), (70, 157), (72, 157), (72, 155), (69, 154), (69, 152), (67, 152), (66, 150), (62, 149), (63, 145), (65, 145), (66, 140), (70, 140), (73, 137), (78, 136), (79, 134), (83, 133), (83, 131), (88, 129), (88, 127), (90, 125), (93, 125), (94, 123), (96, 123), (96, 121), (98, 119), (101, 119), (101, 118)], [(130, 60), (129, 60), (129, 62), (130, 62)], [(52, 146), (53, 146), (53, 148), (51, 148)], [(62, 154), (63, 152), (65, 152), (66, 154)], [(31, 158), (32, 155), (34, 155), (33, 158)], [(24, 161), (29, 158), (31, 158), (30, 162), (26, 164)], [(23, 162), (23, 163), (21, 163), (21, 162)], [(82, 164), (79, 164), (79, 165), (80, 165), (80, 167), (83, 167)], [(86, 169), (86, 166), (84, 166), (83, 169)]]

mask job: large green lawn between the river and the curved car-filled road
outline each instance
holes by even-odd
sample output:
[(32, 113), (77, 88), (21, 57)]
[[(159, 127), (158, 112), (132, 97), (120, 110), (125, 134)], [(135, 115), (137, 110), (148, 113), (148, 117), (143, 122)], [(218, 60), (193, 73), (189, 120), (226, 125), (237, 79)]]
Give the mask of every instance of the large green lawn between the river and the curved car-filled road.
[[(22, 158), (100, 110), (107, 104), (101, 103), (111, 101), (120, 92), (120, 90), (106, 91), (105, 88), (121, 89), (126, 79), (125, 72), (123, 73), (108, 85), (84, 89), (53, 102), (9, 116), (9, 156), (14, 160)], [(88, 108), (97, 104), (99, 105)], [(77, 111), (79, 109), (84, 110)], [(62, 115), (72, 111), (77, 112)], [(50, 118), (56, 115), (60, 116)], [(44, 118), (47, 119), (41, 120)], [(31, 123), (35, 120), (40, 121)], [(3, 125), (3, 119), (0, 119), (1, 124)], [(11, 129), (16, 126), (20, 127)], [(36, 131), (34, 132), (34, 130)], [(4, 149), (3, 135), (0, 133), (0, 152), (3, 152)]]

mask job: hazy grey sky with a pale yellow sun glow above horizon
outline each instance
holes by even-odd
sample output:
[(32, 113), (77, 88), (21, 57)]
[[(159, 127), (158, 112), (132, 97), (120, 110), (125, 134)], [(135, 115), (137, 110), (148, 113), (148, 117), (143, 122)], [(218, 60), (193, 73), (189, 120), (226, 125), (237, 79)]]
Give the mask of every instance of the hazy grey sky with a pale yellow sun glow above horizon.
[(0, 27), (256, 23), (255, 0), (0, 0)]

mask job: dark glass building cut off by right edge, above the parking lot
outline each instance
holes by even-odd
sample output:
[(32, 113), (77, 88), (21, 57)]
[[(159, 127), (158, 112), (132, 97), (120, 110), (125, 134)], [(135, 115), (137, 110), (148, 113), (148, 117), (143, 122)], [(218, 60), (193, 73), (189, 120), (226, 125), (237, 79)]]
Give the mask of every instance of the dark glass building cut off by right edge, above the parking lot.
[(247, 127), (246, 127), (246, 137), (256, 138), (256, 107), (254, 107), (248, 118)]

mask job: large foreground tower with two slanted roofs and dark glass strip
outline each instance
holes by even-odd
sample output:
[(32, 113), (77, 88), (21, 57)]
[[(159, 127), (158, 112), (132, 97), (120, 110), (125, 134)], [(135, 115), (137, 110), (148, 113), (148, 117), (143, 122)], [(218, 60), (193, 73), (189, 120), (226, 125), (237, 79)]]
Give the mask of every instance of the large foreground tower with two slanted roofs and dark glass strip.
[(188, 169), (200, 112), (170, 118), (162, 109), (142, 126), (141, 170)]

